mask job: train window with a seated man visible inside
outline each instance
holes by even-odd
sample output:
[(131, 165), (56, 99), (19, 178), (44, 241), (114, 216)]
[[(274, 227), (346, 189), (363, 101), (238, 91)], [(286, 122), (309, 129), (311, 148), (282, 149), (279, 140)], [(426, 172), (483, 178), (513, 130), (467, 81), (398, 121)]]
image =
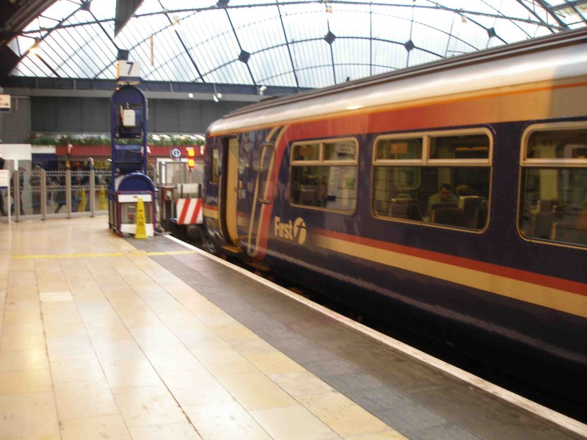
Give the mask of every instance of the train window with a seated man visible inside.
[(482, 230), (491, 142), (485, 129), (380, 136), (373, 155), (373, 214)]

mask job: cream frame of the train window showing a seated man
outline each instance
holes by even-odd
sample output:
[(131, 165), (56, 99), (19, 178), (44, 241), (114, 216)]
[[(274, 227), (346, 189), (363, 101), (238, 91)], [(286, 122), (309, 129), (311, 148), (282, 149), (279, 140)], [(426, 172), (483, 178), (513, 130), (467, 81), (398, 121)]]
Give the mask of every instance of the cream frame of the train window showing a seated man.
[[(431, 138), (446, 138), (450, 136), (473, 136), (484, 135), (489, 140), (489, 151), (487, 158), (481, 159), (434, 159), (430, 158), (430, 140)], [(420, 159), (377, 159), (377, 147), (380, 140), (388, 139), (420, 139), (422, 141), (422, 156)], [(429, 130), (429, 131), (409, 131), (404, 133), (380, 134), (373, 140), (372, 150), (372, 181), (371, 181), (371, 215), (375, 219), (384, 221), (397, 221), (399, 223), (409, 223), (413, 225), (427, 226), (430, 228), (441, 228), (457, 230), (459, 232), (467, 232), (469, 234), (483, 234), (489, 228), (491, 218), (491, 198), (493, 187), (493, 150), (494, 150), (494, 134), (485, 126), (470, 127), (465, 129), (447, 129), (447, 130)], [(429, 221), (416, 221), (410, 219), (399, 219), (397, 217), (389, 217), (385, 215), (375, 214), (373, 210), (373, 194), (375, 191), (375, 167), (393, 166), (393, 167), (485, 167), (489, 168), (489, 188), (487, 193), (487, 221), (485, 226), (481, 229), (462, 228), (458, 226), (442, 225), (438, 223), (431, 223)]]

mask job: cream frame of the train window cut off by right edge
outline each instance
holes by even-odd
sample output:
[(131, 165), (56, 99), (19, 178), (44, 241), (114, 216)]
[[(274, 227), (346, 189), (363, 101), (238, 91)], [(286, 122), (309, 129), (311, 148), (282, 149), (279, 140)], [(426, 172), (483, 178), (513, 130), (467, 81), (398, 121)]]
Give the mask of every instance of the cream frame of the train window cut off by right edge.
[(547, 246), (557, 246), (560, 248), (574, 248), (587, 250), (586, 245), (572, 244), (564, 241), (556, 241), (544, 239), (540, 237), (531, 237), (526, 235), (522, 230), (522, 216), (523, 216), (523, 176), (524, 169), (572, 169), (572, 168), (587, 168), (587, 158), (528, 158), (528, 140), (530, 136), (539, 131), (571, 131), (573, 129), (587, 129), (587, 120), (582, 121), (566, 121), (566, 122), (541, 122), (537, 124), (529, 124), (525, 127), (520, 143), (520, 162), (518, 170), (518, 207), (516, 212), (516, 229), (521, 239), (539, 244), (546, 244)]

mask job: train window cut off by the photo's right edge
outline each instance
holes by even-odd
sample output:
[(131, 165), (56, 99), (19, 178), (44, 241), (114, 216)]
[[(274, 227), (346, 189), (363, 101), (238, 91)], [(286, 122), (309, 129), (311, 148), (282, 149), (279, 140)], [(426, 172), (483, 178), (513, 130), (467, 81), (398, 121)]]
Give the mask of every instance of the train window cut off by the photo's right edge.
[(587, 246), (587, 123), (534, 125), (521, 158), (519, 229), (530, 239)]

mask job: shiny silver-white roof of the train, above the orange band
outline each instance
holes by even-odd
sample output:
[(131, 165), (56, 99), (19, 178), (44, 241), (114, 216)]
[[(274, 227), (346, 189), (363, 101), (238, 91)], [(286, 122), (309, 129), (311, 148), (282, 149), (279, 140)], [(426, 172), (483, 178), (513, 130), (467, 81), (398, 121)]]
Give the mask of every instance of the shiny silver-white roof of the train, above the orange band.
[(587, 75), (587, 28), (263, 100), (212, 122), (208, 134)]

